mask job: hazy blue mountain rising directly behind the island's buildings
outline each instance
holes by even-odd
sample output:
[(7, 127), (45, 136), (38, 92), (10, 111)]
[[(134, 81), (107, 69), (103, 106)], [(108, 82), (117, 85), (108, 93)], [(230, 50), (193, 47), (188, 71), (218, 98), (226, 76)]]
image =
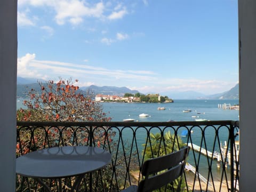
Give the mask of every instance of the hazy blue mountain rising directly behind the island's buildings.
[(122, 96), (125, 93), (139, 93), (137, 90), (130, 90), (127, 87), (116, 87), (116, 86), (95, 86), (80, 87), (80, 89), (87, 91), (91, 90), (94, 94), (106, 94), (106, 95), (119, 95)]

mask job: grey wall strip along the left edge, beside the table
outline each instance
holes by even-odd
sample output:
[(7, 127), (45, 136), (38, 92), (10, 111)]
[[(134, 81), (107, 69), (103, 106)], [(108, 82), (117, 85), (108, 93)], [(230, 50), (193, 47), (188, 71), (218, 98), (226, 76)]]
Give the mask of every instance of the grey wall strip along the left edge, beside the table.
[(0, 1), (0, 191), (15, 191), (17, 0)]

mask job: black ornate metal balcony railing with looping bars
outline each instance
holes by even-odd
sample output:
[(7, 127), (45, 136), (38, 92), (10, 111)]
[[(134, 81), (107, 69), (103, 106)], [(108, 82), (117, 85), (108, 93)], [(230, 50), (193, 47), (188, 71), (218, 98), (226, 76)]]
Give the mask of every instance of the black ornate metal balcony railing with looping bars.
[[(120, 191), (138, 184), (145, 159), (187, 145), (190, 152), (184, 191), (239, 190), (239, 122), (17, 123), (17, 157), (42, 148), (67, 145), (96, 146), (112, 154), (109, 166), (85, 175), (81, 191)], [(64, 178), (63, 187), (68, 189), (73, 180)], [(45, 182), (58, 191), (57, 181)], [(17, 191), (43, 189), (35, 180), (17, 175)]]

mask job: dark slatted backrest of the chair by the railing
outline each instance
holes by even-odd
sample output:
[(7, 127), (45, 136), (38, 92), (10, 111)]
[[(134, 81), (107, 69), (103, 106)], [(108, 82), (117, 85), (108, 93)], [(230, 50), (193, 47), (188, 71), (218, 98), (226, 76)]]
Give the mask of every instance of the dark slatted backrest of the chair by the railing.
[[(141, 180), (137, 191), (152, 191), (159, 189), (181, 176), (185, 169), (189, 147), (161, 157), (152, 158), (142, 165), (141, 174), (145, 179)], [(164, 171), (158, 173), (160, 171)], [(180, 190), (181, 180), (178, 190)]]

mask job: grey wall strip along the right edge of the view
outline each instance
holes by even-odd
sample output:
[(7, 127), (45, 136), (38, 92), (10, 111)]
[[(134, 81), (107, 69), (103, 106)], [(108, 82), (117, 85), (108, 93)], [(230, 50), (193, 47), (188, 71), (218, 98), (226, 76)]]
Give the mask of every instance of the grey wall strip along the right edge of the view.
[(256, 1), (238, 0), (240, 191), (256, 190)]

